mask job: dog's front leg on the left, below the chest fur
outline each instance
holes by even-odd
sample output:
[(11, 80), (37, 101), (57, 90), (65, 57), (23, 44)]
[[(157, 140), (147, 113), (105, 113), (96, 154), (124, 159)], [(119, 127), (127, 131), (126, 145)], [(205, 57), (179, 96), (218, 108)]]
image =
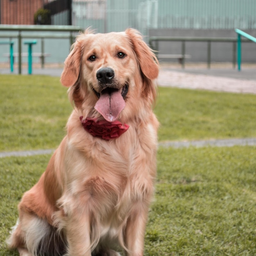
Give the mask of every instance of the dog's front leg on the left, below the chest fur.
[(74, 212), (66, 223), (67, 252), (69, 256), (91, 256), (90, 217), (81, 211)]

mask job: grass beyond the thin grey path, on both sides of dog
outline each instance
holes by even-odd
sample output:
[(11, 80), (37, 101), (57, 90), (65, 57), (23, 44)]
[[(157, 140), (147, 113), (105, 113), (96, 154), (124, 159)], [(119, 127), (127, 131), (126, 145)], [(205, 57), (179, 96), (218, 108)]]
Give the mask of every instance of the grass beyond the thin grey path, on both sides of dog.
[[(50, 76), (0, 75), (0, 151), (56, 148), (72, 111)], [(159, 88), (159, 140), (256, 137), (256, 95)]]

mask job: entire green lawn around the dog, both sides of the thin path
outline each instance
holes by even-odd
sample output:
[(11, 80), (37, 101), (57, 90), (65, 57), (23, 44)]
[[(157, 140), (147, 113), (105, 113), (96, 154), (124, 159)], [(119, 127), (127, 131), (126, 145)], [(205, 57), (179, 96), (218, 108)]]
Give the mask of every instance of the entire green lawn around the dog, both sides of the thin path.
[[(49, 76), (0, 75), (0, 151), (56, 148), (72, 111)], [(256, 137), (256, 95), (159, 88), (159, 141)], [(256, 255), (256, 147), (159, 148), (145, 256)], [(0, 158), (0, 255), (50, 155)]]

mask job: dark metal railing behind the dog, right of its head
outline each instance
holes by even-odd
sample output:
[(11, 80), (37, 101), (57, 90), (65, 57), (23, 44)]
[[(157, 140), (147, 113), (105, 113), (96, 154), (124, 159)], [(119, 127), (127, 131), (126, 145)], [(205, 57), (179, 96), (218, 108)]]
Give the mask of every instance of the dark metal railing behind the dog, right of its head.
[[(186, 56), (186, 42), (206, 42), (207, 43), (207, 67), (211, 68), (211, 43), (212, 42), (226, 42), (232, 43), (232, 63), (233, 67), (236, 67), (236, 38), (212, 38), (212, 37), (167, 37), (167, 36), (152, 36), (149, 38), (149, 45), (150, 47), (155, 50), (159, 51), (158, 42), (160, 41), (180, 41), (182, 43), (182, 68), (185, 67), (185, 56)], [(247, 39), (241, 39), (243, 42), (249, 42)], [(155, 43), (153, 43), (155, 42)]]

